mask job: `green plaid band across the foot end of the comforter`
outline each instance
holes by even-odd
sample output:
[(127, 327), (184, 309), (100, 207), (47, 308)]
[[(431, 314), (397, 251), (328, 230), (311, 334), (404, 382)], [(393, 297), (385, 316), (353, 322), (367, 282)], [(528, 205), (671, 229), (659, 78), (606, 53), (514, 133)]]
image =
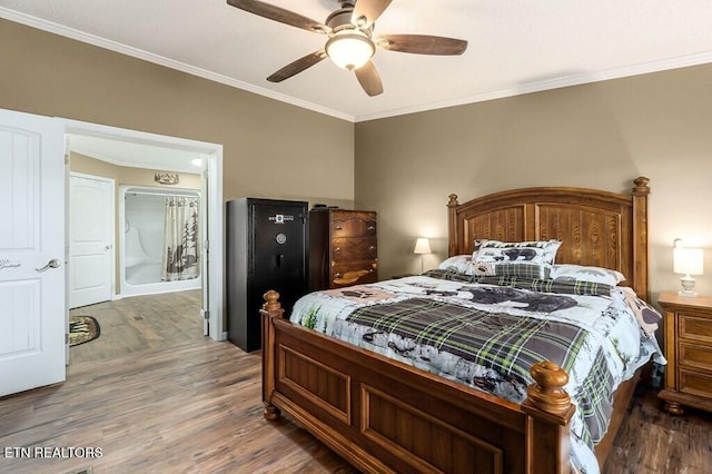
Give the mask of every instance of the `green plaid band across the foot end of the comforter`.
[(346, 322), (373, 328), (362, 337), (393, 334), (412, 340), (398, 347), (400, 355), (416, 346), (429, 346), (462, 357), (516, 382), (531, 383), (530, 367), (553, 361), (566, 372), (581, 350), (587, 332), (573, 324), (513, 316), (427, 298), (357, 308)]

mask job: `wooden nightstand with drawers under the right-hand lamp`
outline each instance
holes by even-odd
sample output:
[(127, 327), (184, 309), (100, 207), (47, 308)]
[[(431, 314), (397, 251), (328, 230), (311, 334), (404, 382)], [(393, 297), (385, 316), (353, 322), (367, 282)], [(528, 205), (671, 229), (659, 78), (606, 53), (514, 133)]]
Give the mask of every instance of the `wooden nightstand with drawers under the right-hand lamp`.
[(674, 415), (682, 406), (712, 412), (712, 298), (663, 293), (657, 303), (665, 318), (665, 387), (657, 396)]

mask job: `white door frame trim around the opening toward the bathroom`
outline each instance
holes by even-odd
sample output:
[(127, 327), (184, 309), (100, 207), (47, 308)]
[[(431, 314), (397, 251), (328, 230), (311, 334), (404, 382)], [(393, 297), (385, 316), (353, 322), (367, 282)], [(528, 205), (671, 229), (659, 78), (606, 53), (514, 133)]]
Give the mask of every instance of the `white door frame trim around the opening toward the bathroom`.
[[(214, 340), (224, 340), (222, 330), (222, 147), (176, 137), (158, 136), (136, 130), (106, 127), (96, 124), (66, 120), (67, 154), (87, 154), (91, 146), (112, 145), (128, 149), (137, 168), (174, 171), (191, 169), (200, 175), (205, 203), (205, 225), (201, 249), (204, 329)], [(149, 150), (145, 155), (140, 150)], [(107, 156), (107, 154), (109, 156)], [(111, 151), (91, 152), (91, 157), (111, 162)], [(188, 159), (189, 157), (189, 159)], [(116, 158), (116, 157), (115, 157)], [(198, 161), (197, 166), (190, 161)], [(131, 165), (129, 165), (131, 166)]]

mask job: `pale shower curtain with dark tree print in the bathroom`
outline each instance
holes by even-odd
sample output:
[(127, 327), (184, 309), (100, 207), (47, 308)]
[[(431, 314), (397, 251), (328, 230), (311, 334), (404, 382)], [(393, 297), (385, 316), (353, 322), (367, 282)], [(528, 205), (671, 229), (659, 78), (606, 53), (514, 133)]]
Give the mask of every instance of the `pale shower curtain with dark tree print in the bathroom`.
[(167, 197), (165, 245), (161, 280), (177, 282), (197, 278), (198, 265), (198, 198)]

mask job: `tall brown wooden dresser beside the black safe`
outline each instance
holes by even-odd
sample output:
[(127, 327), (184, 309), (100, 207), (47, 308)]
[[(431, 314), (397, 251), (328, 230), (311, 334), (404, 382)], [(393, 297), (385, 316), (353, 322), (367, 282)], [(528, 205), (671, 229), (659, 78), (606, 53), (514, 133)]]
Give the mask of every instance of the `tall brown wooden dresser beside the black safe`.
[(376, 282), (377, 257), (376, 213), (309, 211), (309, 290)]

